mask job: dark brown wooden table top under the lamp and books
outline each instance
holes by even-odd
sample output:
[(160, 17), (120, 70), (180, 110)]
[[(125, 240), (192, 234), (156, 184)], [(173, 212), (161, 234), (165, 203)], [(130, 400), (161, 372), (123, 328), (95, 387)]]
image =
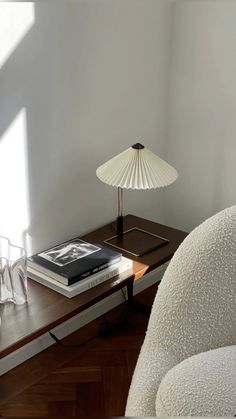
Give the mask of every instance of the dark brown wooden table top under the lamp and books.
[[(81, 237), (84, 240), (104, 244), (104, 240), (113, 235), (113, 223)], [(0, 358), (10, 354), (26, 343), (48, 332), (81, 311), (91, 307), (116, 290), (131, 284), (171, 259), (187, 233), (143, 218), (127, 215), (124, 228), (139, 227), (151, 231), (169, 240), (169, 243), (142, 257), (135, 257), (122, 252), (133, 260), (133, 268), (117, 275), (96, 287), (71, 299), (28, 279), (28, 303), (16, 306), (12, 303), (0, 305), (2, 324), (0, 327)]]

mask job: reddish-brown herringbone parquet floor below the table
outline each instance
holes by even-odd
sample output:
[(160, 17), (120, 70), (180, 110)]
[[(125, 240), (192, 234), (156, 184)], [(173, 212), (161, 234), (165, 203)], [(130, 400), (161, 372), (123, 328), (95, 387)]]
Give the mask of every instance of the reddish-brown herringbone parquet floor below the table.
[[(141, 297), (150, 304), (155, 293), (156, 286)], [(2, 376), (1, 416), (123, 416), (148, 316), (129, 313), (127, 326), (107, 338), (97, 328), (125, 310), (116, 308)]]

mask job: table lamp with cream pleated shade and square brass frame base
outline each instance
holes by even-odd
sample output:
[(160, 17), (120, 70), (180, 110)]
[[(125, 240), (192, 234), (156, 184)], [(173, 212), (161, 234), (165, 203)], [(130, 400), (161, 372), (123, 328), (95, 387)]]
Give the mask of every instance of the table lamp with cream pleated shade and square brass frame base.
[(134, 256), (142, 256), (168, 244), (164, 237), (137, 227), (124, 231), (123, 189), (153, 189), (170, 185), (178, 177), (172, 166), (142, 144), (136, 143), (98, 167), (96, 174), (102, 182), (118, 190), (116, 235), (106, 239), (107, 244)]

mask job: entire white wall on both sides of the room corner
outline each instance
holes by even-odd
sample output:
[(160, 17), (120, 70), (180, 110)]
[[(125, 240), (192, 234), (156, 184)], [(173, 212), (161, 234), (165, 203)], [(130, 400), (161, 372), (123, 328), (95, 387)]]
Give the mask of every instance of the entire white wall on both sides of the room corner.
[[(0, 59), (3, 4), (29, 2), (0, 2)], [(235, 203), (235, 0), (32, 5), (0, 60), (0, 234), (38, 251), (113, 220), (95, 171), (137, 139), (179, 179), (125, 191), (126, 213), (190, 230)]]

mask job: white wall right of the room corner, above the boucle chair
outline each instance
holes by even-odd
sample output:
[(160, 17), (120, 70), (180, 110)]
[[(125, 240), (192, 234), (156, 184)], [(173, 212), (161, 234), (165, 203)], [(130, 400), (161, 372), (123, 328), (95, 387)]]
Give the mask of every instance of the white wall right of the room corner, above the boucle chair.
[(192, 229), (236, 203), (236, 2), (176, 1), (165, 222)]

